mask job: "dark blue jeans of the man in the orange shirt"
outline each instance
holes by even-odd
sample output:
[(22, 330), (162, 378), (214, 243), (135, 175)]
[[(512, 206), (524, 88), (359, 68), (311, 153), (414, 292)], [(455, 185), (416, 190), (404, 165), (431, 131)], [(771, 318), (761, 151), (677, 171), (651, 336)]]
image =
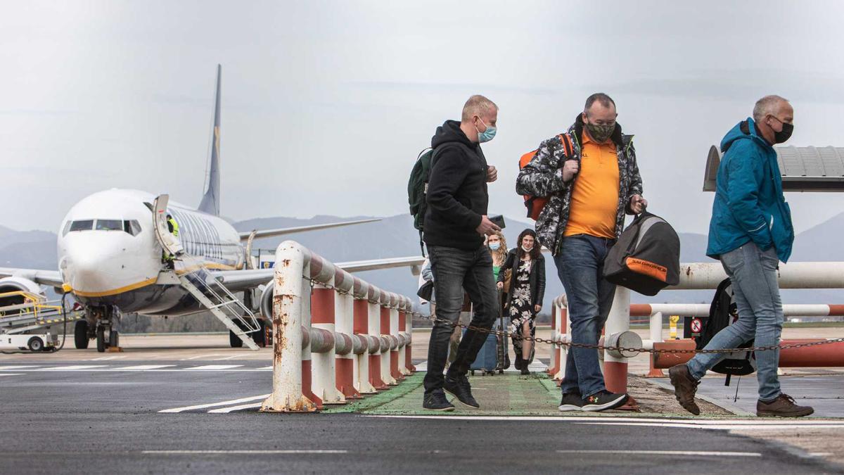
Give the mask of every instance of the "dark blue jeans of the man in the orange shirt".
[[(595, 345), (601, 337), (615, 295), (615, 284), (603, 278), (603, 259), (614, 243), (614, 239), (578, 234), (563, 238), (560, 252), (554, 258), (569, 300), (571, 341), (574, 343)], [(606, 390), (598, 363), (598, 350), (569, 349), (560, 389), (563, 394), (580, 392), (584, 399)]]

